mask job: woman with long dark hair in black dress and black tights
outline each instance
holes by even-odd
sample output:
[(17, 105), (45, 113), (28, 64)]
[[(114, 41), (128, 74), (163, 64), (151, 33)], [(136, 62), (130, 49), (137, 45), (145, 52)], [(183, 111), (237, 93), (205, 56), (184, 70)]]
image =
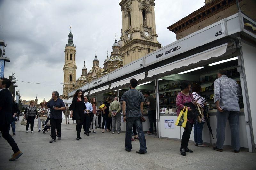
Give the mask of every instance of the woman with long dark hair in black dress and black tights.
[(72, 106), (69, 107), (69, 110), (72, 110), (70, 113), (70, 118), (76, 121), (76, 140), (82, 139), (80, 137), (80, 132), (82, 129), (82, 124), (84, 122), (84, 110), (86, 106), (84, 104), (84, 93), (82, 90), (77, 90), (73, 96)]

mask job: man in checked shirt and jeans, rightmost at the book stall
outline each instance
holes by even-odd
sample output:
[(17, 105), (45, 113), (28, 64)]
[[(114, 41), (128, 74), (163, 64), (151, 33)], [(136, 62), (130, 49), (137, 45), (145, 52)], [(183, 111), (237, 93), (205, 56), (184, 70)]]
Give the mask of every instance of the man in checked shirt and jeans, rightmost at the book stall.
[(225, 141), (226, 122), (229, 121), (231, 141), (235, 153), (240, 151), (239, 140), (239, 98), (242, 92), (233, 79), (227, 77), (227, 71), (218, 70), (218, 79), (214, 81), (214, 102), (217, 108), (217, 142), (214, 150), (222, 151)]

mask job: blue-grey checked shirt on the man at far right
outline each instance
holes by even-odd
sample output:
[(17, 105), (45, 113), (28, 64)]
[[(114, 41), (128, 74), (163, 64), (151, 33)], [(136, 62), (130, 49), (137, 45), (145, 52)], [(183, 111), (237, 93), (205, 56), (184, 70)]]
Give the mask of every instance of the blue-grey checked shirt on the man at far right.
[(238, 96), (241, 95), (242, 91), (237, 82), (226, 75), (214, 81), (214, 102), (219, 100), (223, 110), (240, 111)]

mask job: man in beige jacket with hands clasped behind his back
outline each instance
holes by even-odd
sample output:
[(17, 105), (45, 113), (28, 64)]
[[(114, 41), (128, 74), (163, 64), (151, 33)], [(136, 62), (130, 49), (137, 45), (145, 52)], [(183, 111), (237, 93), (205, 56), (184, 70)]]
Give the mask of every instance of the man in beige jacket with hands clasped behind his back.
[(121, 104), (117, 101), (118, 97), (114, 98), (114, 101), (109, 105), (109, 112), (112, 115), (112, 134), (115, 133), (117, 125), (117, 133), (121, 133)]

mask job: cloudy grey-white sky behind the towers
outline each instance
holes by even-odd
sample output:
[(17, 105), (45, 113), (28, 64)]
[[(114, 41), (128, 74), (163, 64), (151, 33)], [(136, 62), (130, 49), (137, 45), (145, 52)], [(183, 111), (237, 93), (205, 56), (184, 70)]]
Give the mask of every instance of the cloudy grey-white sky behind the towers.
[[(100, 66), (120, 40), (122, 13), (120, 0), (0, 0), (0, 39), (8, 44), (5, 77), (15, 72), (22, 100), (38, 103), (50, 99), (52, 91), (63, 94), (64, 50), (70, 25), (76, 45), (76, 78), (85, 65), (88, 71), (97, 50)], [(166, 46), (176, 40), (166, 27), (204, 6), (204, 0), (156, 0), (156, 33)]]

